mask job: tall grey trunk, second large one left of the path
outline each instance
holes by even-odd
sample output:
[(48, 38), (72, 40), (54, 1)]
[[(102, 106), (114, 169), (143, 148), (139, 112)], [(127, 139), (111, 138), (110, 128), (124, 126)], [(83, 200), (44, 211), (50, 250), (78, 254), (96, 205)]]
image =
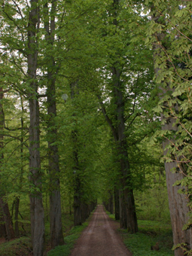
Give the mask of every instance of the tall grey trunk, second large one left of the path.
[[(51, 2), (50, 22), (47, 20), (49, 17), (48, 6), (45, 5), (45, 13), (47, 21), (44, 22), (44, 29), (47, 32), (46, 40), (47, 47), (53, 47), (54, 32), (55, 32), (55, 12), (56, 0)], [(50, 174), (50, 243), (51, 248), (57, 245), (63, 245), (64, 239), (62, 234), (62, 212), (61, 212), (61, 196), (59, 185), (59, 152), (57, 142), (57, 128), (55, 123), (56, 117), (56, 63), (54, 57), (47, 53), (45, 56), (47, 62), (47, 138), (48, 138), (48, 151), (49, 151), (49, 174)]]

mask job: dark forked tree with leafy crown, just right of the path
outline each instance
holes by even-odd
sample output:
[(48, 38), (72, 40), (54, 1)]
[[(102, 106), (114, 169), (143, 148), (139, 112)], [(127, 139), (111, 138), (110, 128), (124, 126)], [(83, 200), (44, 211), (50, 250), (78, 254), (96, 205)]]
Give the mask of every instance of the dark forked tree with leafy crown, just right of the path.
[[(137, 38), (141, 39), (142, 33), (133, 32), (136, 23), (139, 22), (142, 26), (145, 20), (134, 13), (132, 8), (127, 10), (123, 2), (114, 1), (112, 5), (108, 5), (107, 15), (105, 26), (102, 28), (104, 34), (102, 42), (107, 56), (100, 72), (103, 80), (99, 82), (101, 85), (99, 85), (98, 97), (116, 143), (114, 154), (119, 163), (122, 184), (121, 227), (128, 225), (128, 230), (134, 233), (137, 232), (138, 227), (133, 197), (134, 180), (128, 156), (130, 148), (128, 134), (130, 127), (144, 112), (144, 98), (148, 99), (151, 90), (151, 69), (143, 62), (144, 56), (149, 56), (150, 59), (150, 53)], [(127, 32), (129, 30), (130, 33)], [(132, 36), (137, 39), (132, 41)], [(139, 52), (139, 48), (143, 51)], [(150, 62), (148, 64), (151, 68)], [(146, 86), (145, 83), (149, 85)]]

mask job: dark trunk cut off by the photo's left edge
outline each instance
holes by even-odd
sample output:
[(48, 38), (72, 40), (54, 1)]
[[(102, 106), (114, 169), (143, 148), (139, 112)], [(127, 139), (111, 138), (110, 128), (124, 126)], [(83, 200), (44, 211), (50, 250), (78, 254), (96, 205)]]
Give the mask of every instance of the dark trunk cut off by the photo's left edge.
[[(4, 127), (4, 113), (3, 113), (3, 89), (0, 87), (0, 130), (3, 133), (3, 127)], [(2, 152), (3, 150), (3, 135), (0, 136), (0, 163), (4, 159), (4, 154)], [(1, 172), (1, 169), (0, 169)], [(1, 183), (0, 183), (1, 184)], [(5, 230), (5, 237), (6, 239), (10, 240), (14, 238), (14, 228), (11, 221), (11, 214), (9, 212), (8, 203), (5, 202), (5, 191), (0, 190), (0, 209), (2, 211), (0, 212), (0, 215), (2, 217), (3, 224), (0, 225), (2, 227), (2, 230)]]

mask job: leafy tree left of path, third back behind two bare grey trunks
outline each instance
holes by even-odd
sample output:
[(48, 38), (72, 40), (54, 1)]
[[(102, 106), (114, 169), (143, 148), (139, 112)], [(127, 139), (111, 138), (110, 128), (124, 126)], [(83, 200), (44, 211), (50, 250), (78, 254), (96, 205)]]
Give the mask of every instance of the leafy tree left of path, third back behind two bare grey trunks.
[[(63, 126), (68, 126), (67, 168), (70, 186), (73, 192), (73, 209), (75, 226), (84, 223), (96, 203), (96, 173), (94, 172), (94, 138), (96, 128), (93, 126), (96, 102), (90, 93), (84, 92), (81, 80), (69, 81), (71, 99), (67, 99), (65, 114), (62, 114)], [(87, 104), (89, 102), (89, 104)], [(65, 140), (66, 140), (65, 139)], [(91, 143), (90, 143), (91, 142)], [(64, 142), (62, 143), (64, 144)], [(66, 143), (65, 143), (66, 145)]]

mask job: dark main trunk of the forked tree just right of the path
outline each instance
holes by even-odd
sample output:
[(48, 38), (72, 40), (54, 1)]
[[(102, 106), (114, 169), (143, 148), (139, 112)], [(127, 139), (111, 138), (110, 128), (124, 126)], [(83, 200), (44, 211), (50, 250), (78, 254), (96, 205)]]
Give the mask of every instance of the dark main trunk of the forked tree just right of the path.
[[(124, 101), (122, 93), (122, 85), (120, 83), (121, 70), (115, 66), (112, 67), (112, 79), (113, 79), (113, 91), (114, 102), (116, 105), (115, 116), (117, 118), (116, 135), (114, 137), (117, 143), (117, 152), (120, 157), (120, 172), (121, 172), (121, 184), (123, 184), (123, 203), (126, 207), (127, 229), (130, 233), (136, 233), (138, 231), (138, 224), (136, 218), (136, 206), (132, 189), (132, 177), (130, 172), (130, 163), (128, 159), (128, 145), (126, 142), (126, 128), (124, 120)], [(121, 211), (123, 212), (123, 210)], [(121, 216), (122, 220), (123, 216)], [(123, 224), (122, 224), (123, 226)]]

